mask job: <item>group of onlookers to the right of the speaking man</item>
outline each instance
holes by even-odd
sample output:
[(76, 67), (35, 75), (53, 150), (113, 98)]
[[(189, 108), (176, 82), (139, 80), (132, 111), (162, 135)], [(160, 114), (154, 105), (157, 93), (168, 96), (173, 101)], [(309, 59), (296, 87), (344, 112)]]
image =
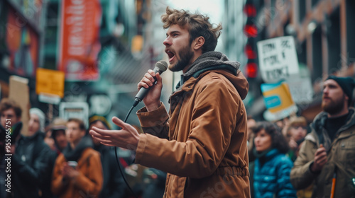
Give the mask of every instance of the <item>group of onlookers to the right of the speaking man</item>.
[(249, 118), (251, 197), (355, 197), (354, 87), (353, 78), (329, 76), (310, 124)]

